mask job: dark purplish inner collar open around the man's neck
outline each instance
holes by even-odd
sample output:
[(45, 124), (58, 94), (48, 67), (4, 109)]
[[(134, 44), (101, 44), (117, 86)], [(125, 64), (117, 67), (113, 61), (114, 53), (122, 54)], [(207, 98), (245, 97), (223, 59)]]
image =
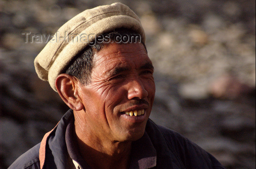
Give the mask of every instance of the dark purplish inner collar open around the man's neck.
[[(69, 121), (66, 129), (65, 140), (68, 154), (76, 169), (90, 169), (89, 165), (82, 159), (77, 144), (73, 137), (74, 119)], [(132, 142), (130, 169), (148, 169), (157, 165), (157, 151), (155, 150), (147, 132), (142, 138)]]

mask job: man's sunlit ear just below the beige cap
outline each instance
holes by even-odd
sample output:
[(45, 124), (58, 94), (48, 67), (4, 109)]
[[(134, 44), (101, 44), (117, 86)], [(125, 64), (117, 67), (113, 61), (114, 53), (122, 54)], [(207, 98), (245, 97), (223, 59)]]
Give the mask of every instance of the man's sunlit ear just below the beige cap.
[(75, 111), (82, 110), (84, 105), (78, 95), (79, 81), (69, 74), (60, 74), (55, 80), (55, 87), (61, 99), (69, 108)]

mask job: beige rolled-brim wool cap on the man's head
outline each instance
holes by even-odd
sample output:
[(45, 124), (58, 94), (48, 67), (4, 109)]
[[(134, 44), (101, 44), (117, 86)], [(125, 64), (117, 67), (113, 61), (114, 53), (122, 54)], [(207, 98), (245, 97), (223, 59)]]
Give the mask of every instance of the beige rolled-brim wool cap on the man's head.
[(145, 43), (145, 32), (138, 16), (126, 5), (113, 3), (87, 9), (69, 20), (54, 34), (34, 60), (38, 77), (49, 81), (54, 91), (57, 76), (69, 62), (98, 35), (117, 28), (128, 28), (140, 34)]

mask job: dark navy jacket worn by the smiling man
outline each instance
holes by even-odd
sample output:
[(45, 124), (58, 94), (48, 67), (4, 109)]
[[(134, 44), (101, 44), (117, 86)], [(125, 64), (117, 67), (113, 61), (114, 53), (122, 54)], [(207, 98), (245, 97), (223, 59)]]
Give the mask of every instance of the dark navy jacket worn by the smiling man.
[[(40, 169), (40, 166), (41, 169), (69, 169), (71, 158), (75, 159), (68, 153), (70, 150), (68, 151), (69, 146), (65, 139), (67, 126), (72, 120), (74, 121), (73, 111), (69, 110), (57, 126), (44, 136), (41, 143), (21, 155), (8, 169)], [(224, 169), (211, 154), (195, 143), (177, 132), (158, 126), (150, 119), (143, 137), (133, 143), (136, 150), (139, 147), (136, 157), (144, 158), (144, 154), (150, 151), (147, 150), (148, 146), (141, 146), (143, 143), (152, 145), (156, 152), (155, 158), (149, 157), (151, 160), (155, 159), (156, 166), (151, 165), (153, 169)], [(130, 168), (140, 169), (141, 166), (148, 165), (139, 162), (143, 163), (143, 160), (138, 158), (131, 160)], [(87, 169), (87, 167), (82, 168)]]

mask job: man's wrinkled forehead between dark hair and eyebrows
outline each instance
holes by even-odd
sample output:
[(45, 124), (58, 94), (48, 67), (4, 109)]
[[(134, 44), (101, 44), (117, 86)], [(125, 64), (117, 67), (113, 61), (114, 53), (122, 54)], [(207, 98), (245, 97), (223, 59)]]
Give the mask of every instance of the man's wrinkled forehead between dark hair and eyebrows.
[(146, 63), (152, 64), (142, 43), (109, 44), (94, 55), (94, 68), (99, 66), (105, 71), (116, 66), (138, 69)]

